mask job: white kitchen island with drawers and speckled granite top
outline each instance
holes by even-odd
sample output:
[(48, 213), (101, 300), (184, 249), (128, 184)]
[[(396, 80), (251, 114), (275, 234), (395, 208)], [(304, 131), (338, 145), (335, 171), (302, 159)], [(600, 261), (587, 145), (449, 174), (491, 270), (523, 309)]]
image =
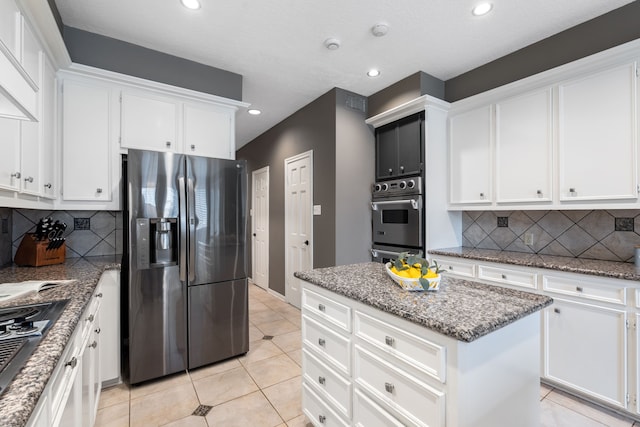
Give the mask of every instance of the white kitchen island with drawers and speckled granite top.
[(551, 298), (446, 275), (436, 292), (407, 292), (379, 263), (295, 275), (314, 424), (539, 424), (538, 312)]

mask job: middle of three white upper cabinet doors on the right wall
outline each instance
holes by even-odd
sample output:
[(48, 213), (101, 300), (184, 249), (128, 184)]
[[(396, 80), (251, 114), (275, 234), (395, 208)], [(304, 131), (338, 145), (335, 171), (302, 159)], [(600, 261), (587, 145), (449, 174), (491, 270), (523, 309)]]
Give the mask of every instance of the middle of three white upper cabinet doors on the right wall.
[(551, 90), (496, 104), (496, 201), (552, 200)]

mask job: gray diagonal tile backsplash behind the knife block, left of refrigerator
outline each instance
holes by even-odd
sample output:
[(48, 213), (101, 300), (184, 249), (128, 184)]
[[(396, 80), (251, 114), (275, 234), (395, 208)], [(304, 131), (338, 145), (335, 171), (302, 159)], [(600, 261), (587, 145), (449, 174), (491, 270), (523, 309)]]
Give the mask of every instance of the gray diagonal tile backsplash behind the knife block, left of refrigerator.
[[(0, 209), (0, 218), (2, 211), (3, 209)], [(12, 259), (24, 234), (34, 232), (36, 224), (44, 217), (51, 217), (54, 221), (60, 220), (67, 224), (64, 233), (67, 258), (122, 253), (122, 212), (13, 209)]]

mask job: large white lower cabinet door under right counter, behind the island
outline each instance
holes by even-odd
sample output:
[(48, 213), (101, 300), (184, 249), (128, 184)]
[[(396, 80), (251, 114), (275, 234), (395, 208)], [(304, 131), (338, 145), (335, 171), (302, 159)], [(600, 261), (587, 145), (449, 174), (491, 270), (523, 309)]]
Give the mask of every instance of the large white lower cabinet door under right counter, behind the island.
[(544, 311), (544, 376), (626, 407), (626, 312), (560, 298)]

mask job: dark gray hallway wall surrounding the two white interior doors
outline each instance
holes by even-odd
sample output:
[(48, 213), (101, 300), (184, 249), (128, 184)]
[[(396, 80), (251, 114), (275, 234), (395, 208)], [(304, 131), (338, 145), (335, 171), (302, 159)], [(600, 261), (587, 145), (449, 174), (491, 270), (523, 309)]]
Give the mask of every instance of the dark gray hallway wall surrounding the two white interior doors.
[(283, 295), (284, 160), (288, 157), (313, 150), (313, 203), (322, 205), (322, 215), (313, 217), (313, 267), (331, 266), (335, 260), (335, 99), (335, 90), (327, 92), (236, 153), (237, 159), (247, 160), (250, 204), (251, 172), (270, 166), (269, 287)]

